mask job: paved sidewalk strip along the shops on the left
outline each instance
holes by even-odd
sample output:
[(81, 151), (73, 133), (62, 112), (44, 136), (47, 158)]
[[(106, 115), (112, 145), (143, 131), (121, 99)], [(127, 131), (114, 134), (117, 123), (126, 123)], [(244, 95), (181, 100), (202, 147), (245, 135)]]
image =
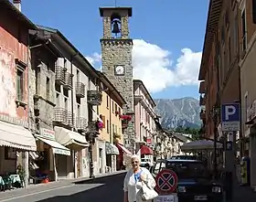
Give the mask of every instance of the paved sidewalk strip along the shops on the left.
[[(95, 179), (99, 179), (99, 178), (103, 178), (103, 177), (110, 177), (113, 175), (122, 175), (126, 172), (127, 171), (123, 170), (123, 171), (117, 171), (117, 172), (113, 172), (113, 173), (95, 175)], [(36, 192), (48, 192), (48, 190), (60, 189), (62, 187), (67, 187), (67, 186), (74, 186), (74, 184), (80, 184), (80, 183), (91, 181), (91, 180), (93, 180), (93, 179), (91, 179), (89, 177), (80, 177), (80, 178), (76, 178), (76, 179), (62, 179), (57, 182), (50, 182), (48, 184), (29, 185), (25, 188), (17, 188), (17, 189), (13, 189), (13, 190), (7, 190), (5, 192), (0, 192), (0, 201), (3, 198), (31, 195)]]

